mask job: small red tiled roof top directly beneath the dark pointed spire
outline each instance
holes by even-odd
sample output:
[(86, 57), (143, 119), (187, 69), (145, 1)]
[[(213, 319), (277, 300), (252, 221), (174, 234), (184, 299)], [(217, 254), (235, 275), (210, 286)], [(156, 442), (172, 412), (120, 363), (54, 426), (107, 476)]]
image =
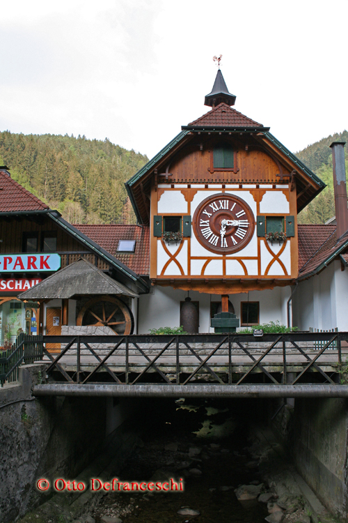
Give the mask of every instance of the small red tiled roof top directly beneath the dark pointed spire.
[(189, 126), (196, 127), (263, 127), (262, 123), (251, 120), (241, 112), (232, 109), (226, 103), (216, 105), (214, 109), (191, 121)]

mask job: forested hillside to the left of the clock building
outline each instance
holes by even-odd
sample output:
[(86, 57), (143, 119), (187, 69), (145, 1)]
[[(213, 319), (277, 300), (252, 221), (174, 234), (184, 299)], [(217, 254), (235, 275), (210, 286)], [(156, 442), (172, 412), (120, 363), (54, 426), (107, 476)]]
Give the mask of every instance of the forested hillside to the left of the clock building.
[(71, 223), (135, 223), (124, 182), (147, 161), (107, 138), (0, 132), (0, 165)]

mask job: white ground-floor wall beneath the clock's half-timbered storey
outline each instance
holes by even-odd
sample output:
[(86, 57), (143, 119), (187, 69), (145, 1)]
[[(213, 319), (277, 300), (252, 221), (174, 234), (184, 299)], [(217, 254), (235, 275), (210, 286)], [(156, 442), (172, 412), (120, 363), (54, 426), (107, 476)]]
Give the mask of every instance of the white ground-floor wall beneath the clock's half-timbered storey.
[[(242, 301), (260, 302), (260, 323), (279, 321), (287, 324), (287, 299), (290, 287), (275, 287), (273, 290), (251, 291), (242, 294), (230, 294), (230, 301), (240, 319)], [(221, 301), (220, 295), (202, 294), (190, 291), (192, 301), (199, 302), (199, 331), (214, 333), (210, 327), (210, 303)], [(151, 294), (139, 298), (139, 334), (148, 334), (150, 328), (177, 327), (180, 325), (180, 301), (187, 298), (187, 291), (172, 287), (152, 287)]]

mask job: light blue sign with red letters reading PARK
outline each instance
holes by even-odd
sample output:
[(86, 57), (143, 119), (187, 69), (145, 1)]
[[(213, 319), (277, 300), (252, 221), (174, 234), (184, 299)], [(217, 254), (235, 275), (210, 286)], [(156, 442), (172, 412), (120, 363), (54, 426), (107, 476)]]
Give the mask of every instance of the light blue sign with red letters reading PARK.
[(0, 255), (0, 273), (58, 271), (61, 257), (54, 254)]

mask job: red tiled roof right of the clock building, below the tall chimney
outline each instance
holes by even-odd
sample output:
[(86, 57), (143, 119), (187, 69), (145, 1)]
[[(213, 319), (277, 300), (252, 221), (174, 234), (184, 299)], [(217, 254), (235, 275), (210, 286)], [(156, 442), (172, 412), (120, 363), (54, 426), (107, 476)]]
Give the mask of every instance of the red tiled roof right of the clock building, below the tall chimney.
[(313, 273), (347, 242), (348, 232), (337, 241), (335, 225), (299, 225), (299, 278)]

